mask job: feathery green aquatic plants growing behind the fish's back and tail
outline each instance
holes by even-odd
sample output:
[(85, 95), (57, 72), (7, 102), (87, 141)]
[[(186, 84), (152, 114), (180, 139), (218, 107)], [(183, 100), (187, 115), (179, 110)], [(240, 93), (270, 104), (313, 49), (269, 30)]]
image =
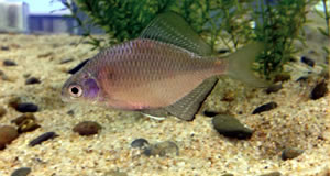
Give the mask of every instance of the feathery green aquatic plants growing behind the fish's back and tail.
[[(221, 42), (233, 52), (246, 43), (263, 41), (265, 52), (256, 61), (256, 70), (272, 79), (283, 72), (283, 65), (297, 52), (294, 41), (304, 42), (301, 26), (307, 21), (307, 7), (316, 1), (75, 0), (76, 6), (67, 1), (63, 3), (72, 10), (72, 16), (85, 30), (82, 35), (89, 37), (95, 48), (138, 37), (152, 19), (169, 10), (183, 15), (212, 48)], [(89, 19), (79, 19), (81, 12)], [(108, 42), (94, 37), (90, 25), (101, 28), (109, 36)]]

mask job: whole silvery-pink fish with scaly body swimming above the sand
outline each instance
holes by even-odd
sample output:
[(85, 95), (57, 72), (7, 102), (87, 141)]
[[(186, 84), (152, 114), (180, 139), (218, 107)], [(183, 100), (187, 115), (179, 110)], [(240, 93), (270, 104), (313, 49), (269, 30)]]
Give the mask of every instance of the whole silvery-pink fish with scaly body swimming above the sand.
[(267, 85), (251, 69), (263, 48), (252, 43), (220, 58), (184, 18), (165, 12), (138, 38), (90, 58), (65, 81), (62, 100), (190, 121), (221, 76)]

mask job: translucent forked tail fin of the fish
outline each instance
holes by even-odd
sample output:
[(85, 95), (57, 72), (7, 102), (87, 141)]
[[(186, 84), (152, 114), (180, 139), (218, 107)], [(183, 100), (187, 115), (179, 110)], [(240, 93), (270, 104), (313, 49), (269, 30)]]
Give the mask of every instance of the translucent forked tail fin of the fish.
[(253, 43), (229, 55), (229, 57), (226, 58), (228, 62), (227, 74), (248, 85), (266, 87), (268, 84), (256, 77), (252, 70), (252, 64), (263, 50), (263, 43)]

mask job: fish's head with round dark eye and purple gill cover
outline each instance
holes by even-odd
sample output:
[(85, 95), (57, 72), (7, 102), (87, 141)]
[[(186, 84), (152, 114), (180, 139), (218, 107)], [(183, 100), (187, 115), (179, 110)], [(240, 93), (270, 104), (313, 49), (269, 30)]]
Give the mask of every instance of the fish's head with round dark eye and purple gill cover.
[(64, 84), (62, 100), (66, 102), (97, 103), (101, 97), (100, 92), (96, 77), (88, 70), (80, 70)]

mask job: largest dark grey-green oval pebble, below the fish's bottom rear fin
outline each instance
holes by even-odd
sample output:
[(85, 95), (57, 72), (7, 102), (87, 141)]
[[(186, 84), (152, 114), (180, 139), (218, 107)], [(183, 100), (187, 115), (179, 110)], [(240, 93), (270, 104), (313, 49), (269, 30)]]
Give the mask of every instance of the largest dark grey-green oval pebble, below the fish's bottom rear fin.
[(218, 114), (212, 119), (215, 129), (222, 135), (235, 139), (250, 139), (253, 130), (245, 128), (238, 119), (228, 114)]

